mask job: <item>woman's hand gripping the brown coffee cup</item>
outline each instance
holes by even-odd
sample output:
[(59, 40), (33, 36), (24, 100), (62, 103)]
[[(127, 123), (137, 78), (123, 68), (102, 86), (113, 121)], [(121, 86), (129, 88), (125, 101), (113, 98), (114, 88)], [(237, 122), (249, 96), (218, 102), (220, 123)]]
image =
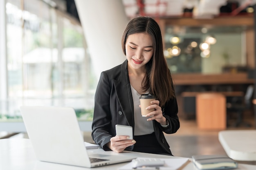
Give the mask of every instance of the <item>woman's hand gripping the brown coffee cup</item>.
[[(155, 109), (155, 111), (152, 111), (146, 115), (146, 117), (148, 118), (147, 121), (156, 120), (157, 122), (159, 122), (162, 125), (167, 124), (167, 120), (163, 116), (162, 108), (159, 106), (159, 100), (153, 100), (153, 101), (151, 101), (151, 104), (152, 105), (148, 106), (146, 109), (147, 110)], [(139, 105), (139, 107), (140, 107), (140, 105)], [(152, 117), (150, 117), (150, 116), (152, 116)]]

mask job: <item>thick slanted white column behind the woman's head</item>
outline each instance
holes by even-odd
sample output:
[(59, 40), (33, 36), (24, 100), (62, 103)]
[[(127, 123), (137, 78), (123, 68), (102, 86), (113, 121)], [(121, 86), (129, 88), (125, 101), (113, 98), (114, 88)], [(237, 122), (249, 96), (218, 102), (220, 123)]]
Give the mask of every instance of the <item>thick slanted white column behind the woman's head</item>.
[(75, 0), (97, 78), (126, 59), (121, 38), (129, 19), (121, 0)]

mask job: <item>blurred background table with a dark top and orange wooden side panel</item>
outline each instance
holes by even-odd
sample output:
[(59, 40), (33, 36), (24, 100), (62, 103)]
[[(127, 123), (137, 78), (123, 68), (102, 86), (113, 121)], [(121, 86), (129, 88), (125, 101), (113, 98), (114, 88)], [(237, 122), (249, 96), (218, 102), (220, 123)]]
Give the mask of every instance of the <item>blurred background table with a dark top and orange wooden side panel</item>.
[(195, 112), (199, 129), (227, 128), (226, 99), (228, 97), (243, 97), (244, 92), (182, 92), (183, 108), (187, 113)]

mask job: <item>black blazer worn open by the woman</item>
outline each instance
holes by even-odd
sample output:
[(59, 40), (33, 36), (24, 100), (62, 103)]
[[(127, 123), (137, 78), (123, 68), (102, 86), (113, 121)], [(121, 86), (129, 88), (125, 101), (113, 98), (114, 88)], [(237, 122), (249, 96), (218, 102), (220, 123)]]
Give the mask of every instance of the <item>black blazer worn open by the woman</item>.
[[(92, 138), (104, 150), (110, 150), (106, 144), (116, 135), (116, 124), (132, 126), (134, 134), (134, 110), (127, 64), (126, 60), (115, 68), (101, 72), (96, 89)], [(153, 126), (157, 141), (167, 153), (171, 154), (163, 132), (175, 133), (180, 128), (176, 98), (166, 103), (162, 111), (169, 122), (169, 127), (163, 128), (155, 120), (153, 120)], [(129, 146), (126, 150), (132, 150), (132, 148), (133, 146)]]

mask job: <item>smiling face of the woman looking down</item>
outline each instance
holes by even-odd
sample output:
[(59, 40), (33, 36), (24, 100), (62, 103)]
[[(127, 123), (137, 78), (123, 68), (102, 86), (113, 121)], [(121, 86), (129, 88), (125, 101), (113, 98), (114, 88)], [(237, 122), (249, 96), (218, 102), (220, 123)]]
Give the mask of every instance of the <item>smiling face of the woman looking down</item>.
[(147, 33), (131, 34), (126, 40), (125, 49), (128, 66), (145, 69), (154, 53), (153, 40)]

